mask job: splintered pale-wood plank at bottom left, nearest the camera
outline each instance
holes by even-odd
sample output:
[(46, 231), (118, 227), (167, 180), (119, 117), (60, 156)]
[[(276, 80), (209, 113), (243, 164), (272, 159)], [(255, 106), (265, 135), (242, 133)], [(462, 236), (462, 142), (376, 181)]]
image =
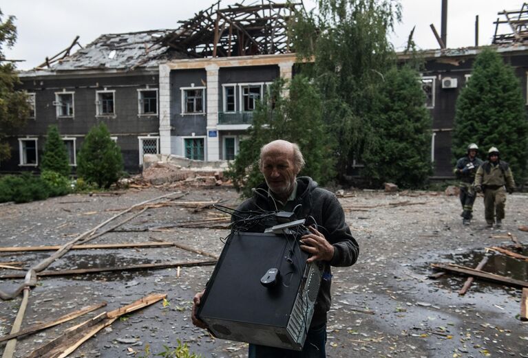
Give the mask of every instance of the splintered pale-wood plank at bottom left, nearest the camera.
[(70, 355), (78, 346), (81, 346), (90, 337), (93, 337), (98, 331), (109, 326), (121, 315), (142, 309), (145, 306), (154, 304), (163, 298), (167, 298), (166, 293), (152, 293), (136, 302), (115, 309), (114, 311), (103, 312), (101, 315), (94, 317), (92, 320), (70, 328), (65, 333), (52, 342), (34, 350), (29, 358), (63, 358)]

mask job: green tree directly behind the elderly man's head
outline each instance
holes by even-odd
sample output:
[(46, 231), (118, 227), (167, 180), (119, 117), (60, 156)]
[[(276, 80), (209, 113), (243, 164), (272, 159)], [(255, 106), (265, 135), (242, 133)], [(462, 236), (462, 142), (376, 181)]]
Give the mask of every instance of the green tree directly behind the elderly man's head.
[[(288, 96), (283, 96), (284, 91)], [(251, 188), (264, 182), (258, 166), (260, 148), (275, 139), (299, 145), (306, 161), (299, 175), (309, 175), (321, 184), (332, 178), (335, 161), (322, 115), (321, 97), (308, 78), (297, 75), (289, 83), (275, 80), (270, 96), (253, 112), (249, 137), (240, 144), (240, 153), (227, 173), (235, 188), (249, 197)]]

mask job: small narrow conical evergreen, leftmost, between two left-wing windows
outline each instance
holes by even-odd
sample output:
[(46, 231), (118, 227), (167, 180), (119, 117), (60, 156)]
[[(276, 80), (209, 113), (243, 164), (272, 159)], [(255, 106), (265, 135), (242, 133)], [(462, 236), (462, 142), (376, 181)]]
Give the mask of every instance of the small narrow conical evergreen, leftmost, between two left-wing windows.
[(64, 177), (70, 175), (71, 168), (66, 146), (59, 135), (59, 128), (55, 125), (47, 128), (47, 139), (40, 166), (41, 170), (52, 170)]

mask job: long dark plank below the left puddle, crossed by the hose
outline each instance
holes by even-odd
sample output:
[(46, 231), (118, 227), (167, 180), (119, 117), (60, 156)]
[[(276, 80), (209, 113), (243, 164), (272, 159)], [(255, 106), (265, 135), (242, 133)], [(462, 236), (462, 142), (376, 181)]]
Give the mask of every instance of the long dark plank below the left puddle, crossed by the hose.
[[(71, 276), (71, 275), (81, 275), (83, 273), (99, 273), (99, 272), (110, 272), (110, 271), (135, 271), (141, 269), (166, 269), (168, 267), (189, 267), (189, 266), (207, 266), (215, 265), (216, 260), (206, 260), (206, 261), (180, 261), (180, 262), (160, 262), (156, 264), (139, 264), (139, 265), (130, 265), (130, 266), (120, 266), (120, 267), (94, 267), (93, 269), (72, 269), (72, 270), (54, 270), (54, 271), (41, 271), (36, 273), (36, 276)], [(11, 273), (8, 275), (0, 276), (0, 280), (6, 280), (11, 278), (23, 278), (25, 274), (23, 273)]]

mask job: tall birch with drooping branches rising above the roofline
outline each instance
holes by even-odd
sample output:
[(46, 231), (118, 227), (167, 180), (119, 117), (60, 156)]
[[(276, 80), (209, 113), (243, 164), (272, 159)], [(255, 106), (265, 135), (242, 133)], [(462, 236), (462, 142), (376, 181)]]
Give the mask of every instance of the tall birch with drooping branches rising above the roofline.
[(400, 17), (399, 3), (390, 0), (320, 0), (317, 14), (297, 14), (295, 51), (315, 58), (310, 76), (324, 93), (340, 175), (377, 143), (375, 98), (396, 59), (388, 32)]

